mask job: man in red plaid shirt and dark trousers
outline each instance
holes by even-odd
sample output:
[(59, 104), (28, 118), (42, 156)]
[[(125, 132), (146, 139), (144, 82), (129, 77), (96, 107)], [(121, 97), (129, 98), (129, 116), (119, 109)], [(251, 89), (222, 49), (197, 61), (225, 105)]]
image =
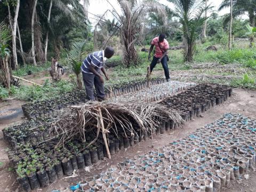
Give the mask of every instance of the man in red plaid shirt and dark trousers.
[(169, 75), (169, 68), (167, 65), (167, 61), (169, 60), (167, 53), (169, 50), (169, 43), (165, 39), (164, 34), (160, 34), (159, 37), (155, 37), (152, 42), (148, 53), (148, 60), (150, 60), (151, 52), (153, 51), (154, 46), (155, 49), (155, 55), (154, 58), (150, 64), (150, 73), (154, 69), (157, 63), (162, 63), (162, 66), (164, 68), (164, 75), (167, 81), (170, 81), (170, 75)]

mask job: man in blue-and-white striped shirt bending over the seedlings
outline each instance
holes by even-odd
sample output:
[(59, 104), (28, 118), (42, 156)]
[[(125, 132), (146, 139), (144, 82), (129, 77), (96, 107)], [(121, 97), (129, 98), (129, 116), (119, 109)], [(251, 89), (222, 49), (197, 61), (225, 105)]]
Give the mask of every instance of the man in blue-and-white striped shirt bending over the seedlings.
[(106, 47), (105, 50), (96, 51), (89, 54), (86, 59), (83, 61), (81, 70), (83, 74), (83, 82), (89, 100), (95, 100), (93, 95), (93, 85), (98, 94), (99, 100), (105, 99), (104, 93), (104, 80), (100, 74), (100, 71), (105, 75), (108, 80), (109, 77), (106, 74), (106, 71), (103, 67), (103, 64), (107, 59), (111, 58), (114, 55), (114, 49), (112, 47)]

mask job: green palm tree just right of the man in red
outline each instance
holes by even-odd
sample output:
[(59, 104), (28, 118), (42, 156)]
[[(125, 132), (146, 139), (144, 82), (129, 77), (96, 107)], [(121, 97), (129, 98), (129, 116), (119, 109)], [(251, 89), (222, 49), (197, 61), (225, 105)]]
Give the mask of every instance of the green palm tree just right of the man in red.
[(195, 51), (195, 41), (199, 34), (197, 31), (201, 28), (204, 21), (205, 10), (204, 1), (198, 0), (169, 0), (175, 5), (175, 14), (180, 19), (182, 25), (183, 38), (185, 43), (184, 60), (191, 62)]

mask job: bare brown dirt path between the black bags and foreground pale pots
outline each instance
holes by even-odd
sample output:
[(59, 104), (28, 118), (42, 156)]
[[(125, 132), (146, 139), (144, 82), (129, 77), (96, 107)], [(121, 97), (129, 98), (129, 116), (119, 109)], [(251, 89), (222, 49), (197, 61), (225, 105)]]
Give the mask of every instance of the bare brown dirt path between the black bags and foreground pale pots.
[[(254, 97), (255, 96), (255, 97)], [(198, 127), (204, 126), (207, 123), (211, 123), (216, 119), (220, 118), (225, 113), (240, 113), (248, 117), (256, 118), (256, 91), (242, 90), (242, 89), (234, 89), (234, 95), (232, 98), (229, 98), (224, 105), (215, 107), (210, 111), (207, 111), (203, 118), (197, 118), (193, 122), (189, 122), (183, 128), (179, 128), (164, 135), (158, 135), (153, 140), (147, 140), (141, 142), (139, 145), (127, 149), (126, 151), (121, 151), (120, 153), (113, 155), (111, 160), (106, 159), (98, 163), (97, 165), (93, 165), (91, 167), (90, 172), (85, 172), (83, 170), (79, 170), (77, 172), (78, 176), (74, 178), (63, 178), (51, 184), (51, 186), (40, 189), (37, 191), (52, 191), (53, 189), (59, 189), (61, 191), (68, 191), (68, 186), (71, 183), (76, 183), (78, 181), (83, 181), (87, 175), (98, 174), (102, 171), (106, 171), (107, 167), (110, 165), (115, 165), (116, 163), (123, 161), (125, 158), (132, 158), (134, 155), (143, 154), (146, 151), (150, 151), (153, 148), (157, 149), (166, 143), (169, 143), (173, 140), (177, 140), (179, 138), (185, 137), (191, 132), (194, 132)], [(4, 129), (7, 125), (0, 125), (0, 129)], [(0, 167), (0, 186), (1, 191), (21, 191), (18, 187), (18, 183), (15, 182), (15, 175), (12, 171), (9, 170), (9, 161), (6, 154), (7, 145), (2, 139), (2, 132), (0, 134), (0, 162), (3, 164)], [(250, 178), (242, 180), (236, 180), (231, 182), (229, 188), (222, 188), (221, 191), (225, 192), (233, 192), (233, 191), (255, 191), (256, 188), (256, 173), (254, 171), (250, 171)]]

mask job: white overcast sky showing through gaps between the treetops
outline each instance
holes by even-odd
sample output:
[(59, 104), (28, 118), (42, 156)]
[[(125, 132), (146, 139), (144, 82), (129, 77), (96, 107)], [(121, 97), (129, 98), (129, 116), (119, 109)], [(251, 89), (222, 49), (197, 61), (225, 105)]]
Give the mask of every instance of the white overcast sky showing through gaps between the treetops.
[[(109, 2), (115, 7), (115, 9), (118, 12), (121, 11), (118, 7), (118, 4), (117, 4), (116, 0), (109, 0)], [(218, 10), (218, 7), (219, 7), (221, 2), (222, 2), (222, 0), (209, 0), (209, 3), (211, 3), (212, 6), (215, 6), (214, 10)], [(159, 0), (159, 3), (162, 3), (164, 5), (169, 6), (171, 9), (174, 7), (173, 4), (171, 4), (167, 0)], [(108, 9), (113, 10), (111, 5), (109, 5), (106, 0), (93, 0), (93, 1), (90, 1), (88, 11), (90, 13), (93, 13), (93, 14), (96, 14), (96, 15), (102, 15)], [(229, 12), (229, 9), (225, 9), (225, 10), (222, 10), (221, 12), (219, 12), (219, 15), (223, 15), (223, 14), (226, 14), (228, 12)], [(92, 22), (92, 25), (94, 26), (95, 23), (97, 23), (97, 20), (95, 20), (95, 19), (97, 19), (97, 17), (94, 17), (90, 13), (88, 14), (88, 17), (89, 17), (89, 20)], [(106, 18), (112, 20), (113, 16), (111, 14), (108, 14)]]

